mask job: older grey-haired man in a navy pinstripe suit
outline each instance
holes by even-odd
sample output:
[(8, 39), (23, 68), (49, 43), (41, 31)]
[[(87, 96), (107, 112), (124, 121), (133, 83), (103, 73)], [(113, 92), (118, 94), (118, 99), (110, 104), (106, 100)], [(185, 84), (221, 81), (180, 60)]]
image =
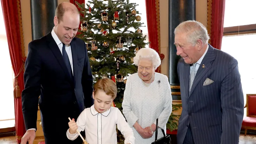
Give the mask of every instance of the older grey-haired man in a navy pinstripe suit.
[(238, 63), (208, 44), (206, 28), (185, 21), (175, 28), (182, 100), (178, 144), (238, 144), (244, 98)]

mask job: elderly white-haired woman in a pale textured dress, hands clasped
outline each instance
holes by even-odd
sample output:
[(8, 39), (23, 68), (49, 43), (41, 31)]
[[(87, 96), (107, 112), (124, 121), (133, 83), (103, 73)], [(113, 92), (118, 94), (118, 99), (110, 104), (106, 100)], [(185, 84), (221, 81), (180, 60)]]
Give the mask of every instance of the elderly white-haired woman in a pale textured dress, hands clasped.
[[(141, 48), (134, 57), (138, 72), (130, 75), (123, 98), (123, 114), (133, 128), (136, 144), (151, 144), (158, 127), (166, 132), (166, 123), (172, 112), (172, 96), (168, 78), (156, 73), (161, 64), (158, 53), (152, 48)], [(158, 139), (163, 137), (158, 129)]]

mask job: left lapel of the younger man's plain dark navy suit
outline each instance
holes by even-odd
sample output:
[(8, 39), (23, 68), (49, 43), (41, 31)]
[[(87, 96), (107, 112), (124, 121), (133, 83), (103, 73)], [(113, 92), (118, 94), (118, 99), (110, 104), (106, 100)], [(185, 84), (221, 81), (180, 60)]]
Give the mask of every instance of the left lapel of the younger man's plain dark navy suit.
[(55, 40), (52, 38), (51, 33), (47, 34), (47, 40), (49, 41), (49, 47), (52, 53), (55, 55), (55, 58), (58, 60), (62, 70), (64, 71), (66, 77), (69, 79), (70, 82), (73, 83), (71, 77), (69, 76), (68, 68), (64, 62), (63, 56), (59, 50), (58, 45), (56, 44)]

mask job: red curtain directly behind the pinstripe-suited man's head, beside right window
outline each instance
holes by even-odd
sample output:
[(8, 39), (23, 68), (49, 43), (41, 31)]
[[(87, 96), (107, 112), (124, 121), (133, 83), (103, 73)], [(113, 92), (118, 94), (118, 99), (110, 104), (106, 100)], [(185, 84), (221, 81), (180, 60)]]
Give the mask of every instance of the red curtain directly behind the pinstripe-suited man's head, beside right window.
[(210, 34), (210, 44), (221, 49), (223, 36), (223, 22), (225, 12), (225, 0), (207, 0), (208, 33)]

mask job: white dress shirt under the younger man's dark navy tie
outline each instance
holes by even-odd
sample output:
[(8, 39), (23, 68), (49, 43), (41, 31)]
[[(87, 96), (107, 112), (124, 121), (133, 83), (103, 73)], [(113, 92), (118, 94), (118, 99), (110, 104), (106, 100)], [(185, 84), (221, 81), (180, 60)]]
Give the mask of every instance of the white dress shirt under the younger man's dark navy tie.
[[(54, 32), (54, 27), (52, 29), (52, 37), (53, 39), (55, 40), (56, 44), (58, 45), (59, 47), (59, 50), (62, 54), (62, 46), (63, 46), (63, 43), (59, 40), (58, 36), (56, 35), (56, 33)], [(66, 52), (68, 54), (68, 57), (69, 57), (69, 62), (70, 62), (70, 65), (71, 65), (71, 70), (72, 70), (72, 74), (73, 74), (73, 59), (72, 59), (72, 52), (71, 52), (71, 46), (70, 45), (65, 45), (65, 49), (66, 49)], [(62, 54), (63, 55), (63, 54)]]

